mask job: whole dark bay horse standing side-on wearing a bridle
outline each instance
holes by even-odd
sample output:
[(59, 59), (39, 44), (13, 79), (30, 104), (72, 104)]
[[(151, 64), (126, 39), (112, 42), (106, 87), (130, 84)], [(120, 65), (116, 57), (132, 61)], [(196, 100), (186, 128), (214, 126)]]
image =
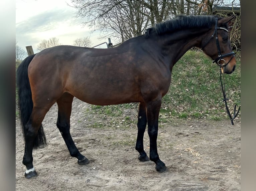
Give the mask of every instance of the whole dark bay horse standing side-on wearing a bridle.
[[(37, 176), (32, 150), (46, 144), (42, 121), (57, 102), (59, 129), (70, 155), (80, 165), (89, 160), (77, 149), (70, 134), (74, 96), (95, 105), (139, 102), (135, 149), (140, 161), (155, 162), (155, 169), (167, 168), (157, 153), (158, 115), (161, 99), (171, 83), (174, 64), (190, 48), (199, 47), (231, 74), (236, 67), (228, 22), (235, 16), (177, 16), (158, 23), (118, 47), (94, 49), (55, 46), (28, 56), (16, 72), (20, 119), (25, 140), (22, 163), (26, 178)], [(148, 125), (149, 157), (143, 148)]]

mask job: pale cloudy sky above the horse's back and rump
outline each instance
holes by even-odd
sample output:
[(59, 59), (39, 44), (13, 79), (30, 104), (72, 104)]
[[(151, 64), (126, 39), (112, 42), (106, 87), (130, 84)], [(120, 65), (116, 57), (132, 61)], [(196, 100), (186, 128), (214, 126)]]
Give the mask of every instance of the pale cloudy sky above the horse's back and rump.
[[(63, 45), (72, 45), (80, 37), (89, 36), (92, 46), (108, 39), (99, 40), (99, 32), (90, 33), (83, 27), (80, 18), (75, 18), (76, 9), (68, 6), (70, 0), (16, 0), (16, 41), (26, 50), (32, 46), (38, 52), (37, 45), (44, 39), (56, 37)], [(106, 44), (98, 47), (106, 48)]]

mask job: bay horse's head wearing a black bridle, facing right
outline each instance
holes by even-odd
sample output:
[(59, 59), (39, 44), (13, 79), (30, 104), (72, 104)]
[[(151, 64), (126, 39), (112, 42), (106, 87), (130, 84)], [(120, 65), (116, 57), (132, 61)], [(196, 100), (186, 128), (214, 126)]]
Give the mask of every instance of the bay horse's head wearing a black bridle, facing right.
[(228, 22), (233, 18), (235, 15), (218, 19), (216, 17), (215, 25), (202, 41), (203, 51), (213, 59), (213, 63), (221, 67), (223, 74), (231, 74), (236, 68), (235, 53), (231, 48), (228, 26)]

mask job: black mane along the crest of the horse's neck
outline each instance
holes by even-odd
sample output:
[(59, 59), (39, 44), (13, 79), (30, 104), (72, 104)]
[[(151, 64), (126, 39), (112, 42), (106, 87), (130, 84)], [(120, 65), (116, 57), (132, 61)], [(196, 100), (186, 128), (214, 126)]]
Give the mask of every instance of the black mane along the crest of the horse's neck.
[(151, 33), (151, 31), (155, 31), (157, 35), (162, 35), (188, 28), (210, 28), (215, 24), (216, 17), (217, 16), (179, 15), (174, 19), (165, 20), (164, 22), (155, 24), (152, 28), (145, 31), (145, 36), (146, 38), (149, 37), (149, 33)]

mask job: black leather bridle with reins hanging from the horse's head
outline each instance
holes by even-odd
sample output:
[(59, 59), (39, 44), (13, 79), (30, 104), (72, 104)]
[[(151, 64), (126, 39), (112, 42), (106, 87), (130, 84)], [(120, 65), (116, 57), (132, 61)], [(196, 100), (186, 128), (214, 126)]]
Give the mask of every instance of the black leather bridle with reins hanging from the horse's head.
[[(234, 120), (234, 119), (236, 118), (236, 116), (238, 115), (238, 113), (239, 113), (239, 111), (240, 111), (241, 105), (239, 106), (239, 108), (238, 108), (238, 110), (237, 110), (237, 112), (236, 112), (237, 104), (240, 103), (240, 101), (238, 101), (238, 102), (235, 104), (235, 107), (234, 107), (234, 115), (233, 115), (233, 117), (232, 117), (231, 114), (230, 114), (229, 108), (228, 108), (228, 104), (227, 104), (228, 98), (226, 97), (226, 90), (225, 90), (224, 77), (222, 76), (222, 78), (221, 78), (221, 75), (222, 75), (221, 69), (229, 64), (229, 62), (233, 59), (233, 57), (235, 56), (236, 53), (234, 53), (234, 52), (232, 51), (232, 52), (227, 53), (227, 54), (223, 54), (223, 55), (221, 54), (221, 48), (220, 48), (220, 43), (219, 43), (219, 39), (218, 39), (218, 29), (222, 29), (222, 30), (225, 30), (225, 31), (227, 31), (227, 32), (229, 32), (229, 31), (228, 31), (228, 29), (226, 29), (226, 28), (218, 27), (218, 26), (217, 26), (218, 18), (215, 18), (215, 20), (216, 20), (216, 22), (215, 22), (214, 33), (212, 34), (211, 38), (205, 43), (205, 45), (202, 46), (202, 50), (206, 47), (206, 45), (210, 42), (210, 40), (211, 40), (211, 39), (214, 37), (214, 35), (216, 34), (215, 39), (216, 39), (216, 45), (217, 45), (217, 49), (218, 49), (218, 58), (216, 58), (215, 60), (213, 60), (213, 63), (216, 63), (217, 65), (220, 66), (220, 81), (221, 81), (221, 88), (222, 88), (222, 93), (223, 93), (223, 97), (224, 97), (223, 101), (225, 102), (226, 111), (227, 111), (227, 113), (228, 113), (228, 115), (229, 115), (229, 118), (230, 118), (230, 120), (231, 120), (231, 125), (234, 125), (233, 120)], [(232, 56), (232, 57), (231, 57), (231, 59), (228, 61), (228, 63), (226, 63), (226, 61), (225, 61), (223, 58), (228, 57), (228, 56)], [(224, 64), (219, 63), (220, 61), (221, 61), (221, 62), (224, 62)], [(222, 82), (222, 79), (223, 79), (223, 82)]]

